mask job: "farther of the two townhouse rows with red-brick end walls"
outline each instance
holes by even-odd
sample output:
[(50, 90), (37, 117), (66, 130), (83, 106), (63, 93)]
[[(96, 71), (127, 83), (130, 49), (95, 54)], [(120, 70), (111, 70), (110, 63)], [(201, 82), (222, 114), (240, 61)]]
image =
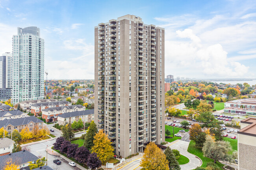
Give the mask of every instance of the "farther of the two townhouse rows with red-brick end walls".
[(45, 110), (47, 108), (70, 106), (71, 104), (72, 103), (70, 103), (68, 101), (40, 102), (40, 103), (36, 103), (36, 104), (31, 105), (31, 113), (33, 113), (34, 116), (37, 116), (38, 113), (40, 113), (42, 110)]

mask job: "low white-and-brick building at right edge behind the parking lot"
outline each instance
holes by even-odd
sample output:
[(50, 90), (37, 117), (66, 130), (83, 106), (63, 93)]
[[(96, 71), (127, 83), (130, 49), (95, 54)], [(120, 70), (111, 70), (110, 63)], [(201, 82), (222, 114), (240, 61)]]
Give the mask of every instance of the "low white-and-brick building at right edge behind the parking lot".
[(256, 115), (256, 99), (238, 99), (225, 102), (224, 113)]

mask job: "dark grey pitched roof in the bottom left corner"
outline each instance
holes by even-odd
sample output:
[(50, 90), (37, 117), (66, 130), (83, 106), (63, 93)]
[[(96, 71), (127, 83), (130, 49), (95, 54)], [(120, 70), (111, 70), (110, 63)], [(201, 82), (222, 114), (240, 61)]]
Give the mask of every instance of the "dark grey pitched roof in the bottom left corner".
[(39, 159), (39, 157), (35, 156), (34, 154), (26, 150), (22, 150), (8, 155), (3, 155), (0, 156), (0, 170), (4, 169), (7, 161), (9, 161), (10, 159), (12, 160), (12, 162), (15, 162), (16, 165), (20, 165), (28, 163), (30, 161), (35, 161)]

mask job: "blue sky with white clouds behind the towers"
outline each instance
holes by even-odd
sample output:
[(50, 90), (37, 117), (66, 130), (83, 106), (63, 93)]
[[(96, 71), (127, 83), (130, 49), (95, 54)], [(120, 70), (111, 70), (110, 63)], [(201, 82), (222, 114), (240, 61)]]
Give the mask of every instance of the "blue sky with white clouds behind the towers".
[(165, 75), (256, 78), (255, 0), (0, 0), (0, 55), (37, 26), (48, 79), (94, 79), (94, 27), (127, 14), (165, 28)]

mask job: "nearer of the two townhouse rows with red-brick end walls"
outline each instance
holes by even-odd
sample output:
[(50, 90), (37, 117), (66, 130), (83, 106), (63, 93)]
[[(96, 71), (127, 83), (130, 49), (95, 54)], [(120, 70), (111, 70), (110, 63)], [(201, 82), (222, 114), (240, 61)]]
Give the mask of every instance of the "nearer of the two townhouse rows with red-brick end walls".
[(80, 104), (78, 105), (71, 105), (71, 106), (61, 106), (55, 108), (47, 108), (42, 110), (42, 118), (45, 119), (46, 122), (52, 118), (53, 121), (57, 121), (57, 116), (59, 114), (67, 113), (67, 112), (75, 112), (75, 111), (82, 111), (85, 110), (85, 106)]

